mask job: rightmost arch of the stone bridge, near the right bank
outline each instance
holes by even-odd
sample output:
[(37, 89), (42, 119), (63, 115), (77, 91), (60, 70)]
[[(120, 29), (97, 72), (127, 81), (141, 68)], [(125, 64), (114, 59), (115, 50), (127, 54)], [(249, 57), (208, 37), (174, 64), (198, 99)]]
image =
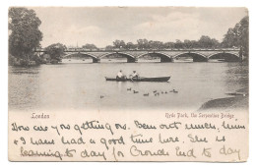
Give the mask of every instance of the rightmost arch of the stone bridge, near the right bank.
[(224, 59), (226, 62), (238, 62), (240, 61), (239, 53), (230, 52), (218, 52), (209, 56), (209, 59)]

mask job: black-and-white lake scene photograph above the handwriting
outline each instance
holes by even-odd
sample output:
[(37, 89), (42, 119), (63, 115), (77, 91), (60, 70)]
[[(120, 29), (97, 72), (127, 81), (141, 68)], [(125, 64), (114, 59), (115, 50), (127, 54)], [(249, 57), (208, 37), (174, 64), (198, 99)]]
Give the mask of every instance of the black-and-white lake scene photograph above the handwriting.
[(10, 7), (8, 22), (10, 110), (248, 108), (246, 8)]

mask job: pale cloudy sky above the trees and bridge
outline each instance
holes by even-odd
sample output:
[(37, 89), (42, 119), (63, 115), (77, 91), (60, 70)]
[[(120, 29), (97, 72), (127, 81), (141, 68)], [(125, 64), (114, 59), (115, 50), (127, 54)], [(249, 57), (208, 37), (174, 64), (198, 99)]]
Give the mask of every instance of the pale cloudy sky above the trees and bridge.
[(137, 39), (198, 40), (209, 35), (222, 41), (248, 15), (246, 8), (195, 7), (33, 7), (41, 21), (42, 47), (52, 43), (97, 47), (112, 45), (115, 39), (136, 43)]

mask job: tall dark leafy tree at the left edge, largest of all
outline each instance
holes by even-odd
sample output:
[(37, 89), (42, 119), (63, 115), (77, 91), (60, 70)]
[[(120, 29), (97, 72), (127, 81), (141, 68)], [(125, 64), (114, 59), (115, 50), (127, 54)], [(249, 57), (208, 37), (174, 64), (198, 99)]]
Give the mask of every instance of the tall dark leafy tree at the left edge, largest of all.
[(9, 52), (16, 58), (29, 64), (32, 51), (40, 45), (42, 33), (41, 22), (33, 10), (27, 8), (9, 9)]

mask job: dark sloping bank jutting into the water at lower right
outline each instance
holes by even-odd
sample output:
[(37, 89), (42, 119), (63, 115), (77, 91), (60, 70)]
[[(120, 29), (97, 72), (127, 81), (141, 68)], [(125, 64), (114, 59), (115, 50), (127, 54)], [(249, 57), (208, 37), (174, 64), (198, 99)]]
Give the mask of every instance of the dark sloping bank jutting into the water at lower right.
[(248, 110), (249, 109), (249, 95), (248, 87), (237, 89), (233, 93), (232, 97), (217, 98), (205, 102), (197, 111), (209, 111), (209, 110)]

